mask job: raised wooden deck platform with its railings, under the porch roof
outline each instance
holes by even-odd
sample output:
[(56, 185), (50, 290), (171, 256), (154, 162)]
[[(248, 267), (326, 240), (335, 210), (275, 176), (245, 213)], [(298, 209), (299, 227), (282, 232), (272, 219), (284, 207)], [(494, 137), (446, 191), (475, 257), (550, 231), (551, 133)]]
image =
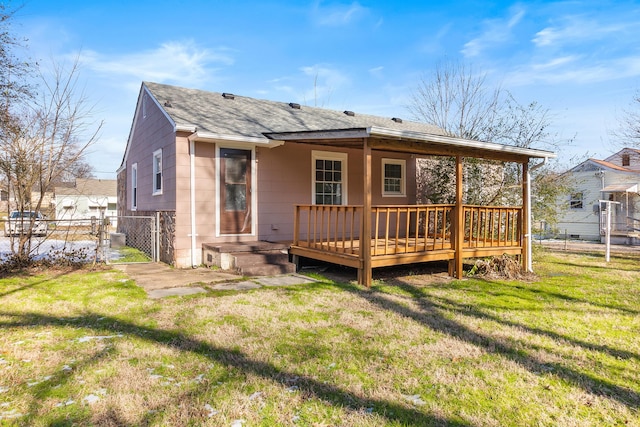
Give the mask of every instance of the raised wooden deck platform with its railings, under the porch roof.
[[(371, 237), (361, 239), (362, 206), (298, 205), (290, 253), (358, 269), (365, 256), (376, 268), (522, 254), (522, 208), (465, 205), (463, 233), (456, 233), (454, 211), (455, 205), (374, 206)], [(456, 236), (463, 236), (460, 254)]]

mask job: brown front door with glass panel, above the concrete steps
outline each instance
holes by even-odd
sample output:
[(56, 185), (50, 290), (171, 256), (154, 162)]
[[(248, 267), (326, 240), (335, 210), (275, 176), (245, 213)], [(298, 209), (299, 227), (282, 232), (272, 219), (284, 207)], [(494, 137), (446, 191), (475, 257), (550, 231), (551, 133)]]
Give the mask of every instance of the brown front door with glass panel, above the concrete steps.
[(251, 234), (251, 150), (220, 149), (220, 234)]

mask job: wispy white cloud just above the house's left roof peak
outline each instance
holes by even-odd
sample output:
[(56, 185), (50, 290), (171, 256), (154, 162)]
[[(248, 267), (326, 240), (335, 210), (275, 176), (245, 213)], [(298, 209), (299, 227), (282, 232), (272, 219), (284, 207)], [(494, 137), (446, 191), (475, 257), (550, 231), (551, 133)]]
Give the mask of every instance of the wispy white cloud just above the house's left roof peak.
[(151, 80), (198, 86), (210, 78), (212, 64), (231, 65), (227, 49), (214, 51), (194, 42), (167, 42), (156, 49), (108, 57), (82, 52), (81, 63), (98, 74), (131, 76), (137, 82)]

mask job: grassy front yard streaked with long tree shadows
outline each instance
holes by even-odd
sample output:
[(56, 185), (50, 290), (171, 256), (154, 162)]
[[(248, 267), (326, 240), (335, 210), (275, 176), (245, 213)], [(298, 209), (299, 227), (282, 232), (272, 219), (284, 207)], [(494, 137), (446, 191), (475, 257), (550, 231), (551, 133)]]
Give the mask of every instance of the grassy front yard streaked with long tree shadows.
[(640, 254), (535, 259), (164, 300), (109, 269), (3, 278), (0, 425), (640, 425)]

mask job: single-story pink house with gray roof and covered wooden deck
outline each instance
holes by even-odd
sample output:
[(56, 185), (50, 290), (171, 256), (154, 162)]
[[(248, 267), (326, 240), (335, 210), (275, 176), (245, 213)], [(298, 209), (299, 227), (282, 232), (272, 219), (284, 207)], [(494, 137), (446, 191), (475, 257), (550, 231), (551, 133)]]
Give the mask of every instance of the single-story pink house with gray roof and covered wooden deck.
[[(416, 158), (432, 155), (456, 157), (456, 171), (462, 157), (510, 161), (525, 176), (530, 159), (555, 157), (399, 118), (145, 82), (117, 171), (118, 214), (160, 217), (160, 259), (177, 267), (260, 241), (357, 268), (366, 284), (383, 265), (448, 260), (460, 276), (464, 257), (530, 260), (527, 186), (522, 208), (478, 210), (462, 205), (456, 173), (456, 204), (417, 206)], [(495, 233), (480, 236), (489, 217)]]

